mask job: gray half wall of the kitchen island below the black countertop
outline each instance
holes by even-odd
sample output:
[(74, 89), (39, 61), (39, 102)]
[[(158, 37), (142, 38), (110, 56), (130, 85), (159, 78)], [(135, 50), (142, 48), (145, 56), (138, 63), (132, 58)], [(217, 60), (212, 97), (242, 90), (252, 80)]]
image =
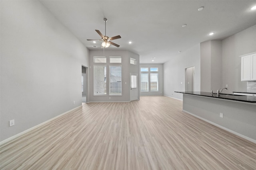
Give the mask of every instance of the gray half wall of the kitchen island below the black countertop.
[(256, 104), (184, 94), (183, 110), (256, 141)]

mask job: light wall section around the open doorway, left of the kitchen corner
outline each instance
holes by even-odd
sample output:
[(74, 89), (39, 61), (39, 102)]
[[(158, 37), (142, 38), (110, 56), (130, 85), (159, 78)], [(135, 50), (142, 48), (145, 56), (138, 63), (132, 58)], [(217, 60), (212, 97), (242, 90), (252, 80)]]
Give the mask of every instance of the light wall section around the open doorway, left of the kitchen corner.
[(200, 91), (200, 44), (164, 63), (164, 96), (182, 99), (182, 94), (174, 91), (185, 91), (185, 68), (192, 66), (195, 66), (194, 90)]

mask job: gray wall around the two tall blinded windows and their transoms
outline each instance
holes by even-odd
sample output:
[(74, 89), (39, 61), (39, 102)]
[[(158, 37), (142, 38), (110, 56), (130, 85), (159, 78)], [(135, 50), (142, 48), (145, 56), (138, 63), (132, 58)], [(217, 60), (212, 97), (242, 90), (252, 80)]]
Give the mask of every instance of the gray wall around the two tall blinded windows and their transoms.
[[(116, 47), (115, 47), (116, 48)], [(93, 95), (93, 83), (94, 83), (94, 71), (93, 65), (100, 65), (101, 63), (93, 63), (94, 56), (106, 56), (107, 63), (107, 77), (109, 77), (108, 65), (121, 65), (122, 64), (122, 96), (109, 96), (108, 95), (108, 81), (107, 81), (107, 95), (106, 96), (94, 96)], [(122, 57), (122, 63), (109, 63), (109, 57)], [(137, 64), (130, 64), (130, 57), (137, 60)], [(101, 50), (90, 50), (90, 67), (89, 67), (89, 86), (90, 94), (89, 100), (86, 98), (86, 102), (129, 102), (130, 101), (130, 73), (136, 73), (139, 76), (139, 63), (140, 56), (129, 51), (124, 50), (111, 50), (111, 47)], [(107, 78), (108, 79), (108, 78)], [(138, 84), (139, 85), (139, 84)], [(88, 94), (87, 94), (88, 96)], [(138, 90), (139, 96), (139, 90)]]

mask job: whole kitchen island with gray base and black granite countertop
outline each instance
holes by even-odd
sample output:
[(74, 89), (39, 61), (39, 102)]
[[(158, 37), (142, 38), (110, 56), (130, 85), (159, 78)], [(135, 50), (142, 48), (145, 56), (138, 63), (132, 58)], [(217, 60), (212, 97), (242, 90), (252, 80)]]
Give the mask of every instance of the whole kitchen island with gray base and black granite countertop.
[(256, 143), (256, 96), (177, 92), (183, 111)]

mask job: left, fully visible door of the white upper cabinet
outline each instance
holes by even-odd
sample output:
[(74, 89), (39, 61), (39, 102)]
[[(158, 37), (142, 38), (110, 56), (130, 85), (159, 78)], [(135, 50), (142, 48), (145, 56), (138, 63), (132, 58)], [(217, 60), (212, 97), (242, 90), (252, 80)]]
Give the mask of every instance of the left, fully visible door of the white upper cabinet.
[(251, 55), (241, 58), (241, 81), (249, 81), (251, 79)]

